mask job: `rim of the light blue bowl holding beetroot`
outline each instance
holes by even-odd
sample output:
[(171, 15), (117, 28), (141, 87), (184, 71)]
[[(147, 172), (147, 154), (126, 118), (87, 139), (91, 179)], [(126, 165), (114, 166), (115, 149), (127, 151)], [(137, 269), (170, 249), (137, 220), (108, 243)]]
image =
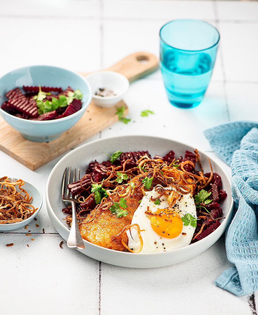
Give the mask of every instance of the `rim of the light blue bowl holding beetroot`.
[(16, 117), (14, 115), (9, 114), (8, 112), (5, 112), (1, 107), (0, 107), (0, 112), (3, 112), (3, 114), (9, 116), (9, 117), (14, 117), (15, 119), (22, 120), (22, 121), (27, 121), (28, 123), (54, 123), (57, 121), (65, 121), (67, 119), (69, 119), (70, 117), (75, 117), (77, 115), (79, 115), (80, 112), (85, 111), (85, 109), (90, 105), (91, 100), (92, 100), (92, 89), (91, 86), (89, 84), (89, 82), (85, 79), (85, 77), (83, 77), (80, 73), (74, 72), (73, 70), (67, 69), (67, 68), (62, 68), (62, 67), (56, 67), (56, 66), (51, 66), (51, 65), (30, 65), (30, 66), (25, 66), (25, 67), (21, 67), (21, 68), (15, 68), (11, 71), (6, 72), (3, 76), (0, 77), (0, 79), (2, 79), (2, 77), (4, 77), (5, 75), (7, 75), (8, 73), (12, 72), (12, 71), (16, 71), (16, 70), (22, 70), (28, 67), (53, 67), (53, 68), (58, 68), (58, 69), (62, 69), (62, 70), (66, 70), (66, 71), (70, 71), (73, 72), (75, 75), (77, 75), (78, 77), (80, 77), (81, 79), (83, 79), (85, 81), (85, 83), (87, 84), (89, 91), (90, 91), (90, 97), (88, 99), (88, 101), (86, 102), (86, 104), (84, 106), (82, 106), (81, 109), (79, 109), (79, 111), (73, 113), (72, 115), (63, 117), (63, 118), (58, 118), (58, 119), (52, 119), (52, 120), (30, 120), (30, 119), (24, 119), (24, 118), (19, 118)]

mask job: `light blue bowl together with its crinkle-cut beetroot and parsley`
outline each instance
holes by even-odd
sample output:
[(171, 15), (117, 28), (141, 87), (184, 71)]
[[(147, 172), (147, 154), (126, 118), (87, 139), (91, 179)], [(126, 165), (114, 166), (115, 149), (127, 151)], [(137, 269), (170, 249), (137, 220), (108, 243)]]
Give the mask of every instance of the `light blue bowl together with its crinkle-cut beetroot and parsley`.
[(58, 138), (84, 114), (92, 98), (81, 75), (54, 66), (28, 66), (0, 78), (0, 115), (28, 140)]

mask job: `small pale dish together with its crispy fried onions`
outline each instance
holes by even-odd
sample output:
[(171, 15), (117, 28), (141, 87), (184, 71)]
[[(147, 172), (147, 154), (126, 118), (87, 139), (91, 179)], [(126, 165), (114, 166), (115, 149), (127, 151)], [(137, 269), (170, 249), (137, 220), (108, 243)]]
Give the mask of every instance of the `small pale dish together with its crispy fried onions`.
[(35, 186), (22, 180), (0, 178), (0, 231), (29, 224), (42, 207), (43, 198)]

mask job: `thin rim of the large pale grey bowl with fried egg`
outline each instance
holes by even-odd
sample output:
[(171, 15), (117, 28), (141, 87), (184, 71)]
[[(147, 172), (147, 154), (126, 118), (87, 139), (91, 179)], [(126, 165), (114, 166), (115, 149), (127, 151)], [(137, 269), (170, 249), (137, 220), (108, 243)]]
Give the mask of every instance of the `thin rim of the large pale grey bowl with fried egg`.
[[(130, 135), (130, 137), (137, 137), (137, 136), (144, 136), (144, 135)], [(123, 138), (123, 137), (126, 138), (126, 137), (128, 137), (128, 135), (123, 135), (123, 136), (120, 136), (119, 138)], [(145, 137), (148, 137), (148, 136), (145, 135)], [(155, 137), (155, 136), (150, 136), (150, 137), (151, 137), (151, 138), (156, 138), (156, 139), (159, 139), (159, 140), (171, 140), (171, 141), (176, 142), (176, 143), (178, 143), (178, 144), (180, 144), (180, 145), (185, 145), (185, 146), (188, 146), (188, 147), (189, 147), (189, 145), (187, 145), (187, 144), (185, 144), (185, 143), (183, 143), (183, 142), (175, 141), (175, 140), (172, 140), (172, 139), (166, 139), (166, 138)], [(63, 160), (66, 156), (68, 156), (68, 155), (73, 155), (73, 154), (76, 152), (76, 150), (80, 149), (80, 148), (83, 147), (83, 146), (90, 145), (91, 143), (94, 143), (94, 142), (101, 142), (101, 141), (107, 140), (107, 139), (108, 139), (108, 140), (115, 140), (116, 138), (117, 138), (117, 137), (101, 138), (101, 139), (93, 140), (93, 141), (90, 141), (90, 142), (87, 142), (87, 143), (85, 143), (85, 144), (83, 144), (83, 145), (78, 146), (77, 148), (73, 149), (72, 151), (68, 152), (65, 156), (63, 156), (62, 159), (60, 159), (60, 160), (56, 163), (56, 165), (54, 166), (54, 168), (53, 168), (52, 171), (50, 172), (50, 175), (49, 175), (48, 180), (47, 180), (47, 185), (46, 185), (46, 204), (47, 204), (47, 208), (50, 209), (52, 215), (56, 218), (56, 224), (59, 226), (60, 229), (64, 229), (64, 230), (66, 230), (67, 232), (70, 232), (70, 230), (69, 230), (66, 226), (64, 226), (64, 225), (61, 223), (61, 221), (58, 219), (58, 217), (56, 216), (55, 212), (53, 211), (53, 209), (52, 209), (52, 207), (51, 207), (51, 205), (50, 205), (50, 201), (49, 201), (49, 198), (48, 198), (48, 190), (49, 190), (49, 184), (50, 184), (50, 177), (51, 177), (51, 176), (53, 175), (53, 173), (55, 172), (56, 167), (57, 167), (59, 164), (62, 163), (62, 160)], [(190, 146), (190, 147), (191, 147), (191, 146)], [(198, 151), (199, 151), (199, 150), (198, 150)], [(205, 153), (202, 152), (202, 151), (199, 151), (199, 153), (202, 153), (202, 154), (204, 154), (205, 156), (207, 156), (207, 154), (205, 154)], [(215, 163), (215, 164), (218, 164), (218, 165), (219, 165), (219, 163), (217, 163), (215, 160), (213, 160), (212, 158), (210, 158), (210, 159), (212, 160), (212, 163)], [(219, 166), (220, 166), (220, 165), (219, 165)], [(220, 167), (223, 169), (222, 166), (220, 166)], [(223, 169), (223, 170), (224, 170), (224, 169)], [(226, 171), (225, 171), (225, 170), (224, 170), (224, 173), (225, 173), (226, 178), (228, 179), (228, 181), (231, 183), (231, 180), (230, 180), (229, 176), (226, 174)], [(60, 192), (60, 193), (61, 193), (61, 192)], [(176, 253), (176, 252), (184, 251), (185, 248), (188, 248), (189, 246), (191, 246), (191, 249), (194, 251), (194, 249), (199, 246), (198, 244), (200, 244), (200, 246), (201, 246), (202, 243), (204, 243), (204, 242), (207, 243), (208, 240), (213, 237), (213, 235), (214, 235), (213, 233), (220, 234), (220, 236), (223, 234), (223, 232), (224, 232), (225, 229), (226, 229), (226, 226), (225, 226), (225, 225), (227, 225), (227, 224), (226, 224), (226, 221), (227, 221), (228, 217), (231, 217), (231, 215), (232, 215), (233, 205), (234, 205), (234, 202), (233, 202), (233, 198), (232, 198), (232, 202), (231, 202), (231, 205), (230, 205), (230, 209), (229, 209), (228, 214), (226, 215), (224, 221), (220, 224), (220, 226), (219, 226), (214, 232), (212, 232), (211, 234), (209, 234), (209, 235), (206, 236), (205, 238), (202, 238), (200, 241), (195, 242), (195, 243), (192, 243), (192, 244), (189, 244), (189, 245), (187, 245), (187, 246), (185, 246), (185, 247), (181, 247), (181, 248), (178, 248), (178, 249), (173, 249), (173, 250), (170, 250), (170, 251), (167, 251), (167, 252), (161, 252), (161, 253), (160, 253), (160, 252), (158, 252), (158, 253), (138, 253), (137, 255), (150, 256), (150, 255), (161, 255), (161, 254), (162, 254), (162, 255), (165, 256), (165, 255), (171, 254), (171, 252)], [(52, 222), (52, 224), (53, 224), (53, 222)], [(223, 232), (220, 233), (220, 231), (223, 231)], [(112, 252), (114, 252), (114, 249), (108, 249), (108, 248), (105, 248), (105, 247), (102, 247), (102, 246), (93, 244), (93, 243), (91, 243), (91, 242), (88, 242), (88, 241), (86, 241), (86, 240), (83, 240), (83, 241), (84, 241), (86, 244), (88, 244), (89, 246), (96, 247), (97, 249), (101, 248), (101, 249), (103, 250), (103, 255), (105, 255), (105, 252), (106, 252), (106, 253), (112, 253)], [(217, 241), (217, 240), (216, 240), (216, 241)], [(216, 241), (215, 241), (215, 242), (216, 242)], [(215, 242), (214, 242), (214, 243), (215, 243)], [(117, 255), (124, 256), (124, 257), (127, 257), (128, 255), (136, 255), (136, 254), (134, 254), (134, 253), (125, 252), (125, 251), (123, 251), (123, 252), (115, 251), (115, 252), (118, 252), (118, 253), (119, 253), (119, 254), (117, 254)]]

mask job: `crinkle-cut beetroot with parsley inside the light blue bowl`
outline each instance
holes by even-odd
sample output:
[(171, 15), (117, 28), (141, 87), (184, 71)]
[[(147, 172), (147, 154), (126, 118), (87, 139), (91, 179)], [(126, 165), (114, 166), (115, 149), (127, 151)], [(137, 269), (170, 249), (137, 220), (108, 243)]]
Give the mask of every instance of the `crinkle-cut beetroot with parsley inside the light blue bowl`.
[[(23, 92), (24, 91), (24, 92)], [(9, 114), (28, 120), (53, 120), (78, 112), (83, 94), (71, 87), (23, 86), (9, 90), (1, 108)]]

